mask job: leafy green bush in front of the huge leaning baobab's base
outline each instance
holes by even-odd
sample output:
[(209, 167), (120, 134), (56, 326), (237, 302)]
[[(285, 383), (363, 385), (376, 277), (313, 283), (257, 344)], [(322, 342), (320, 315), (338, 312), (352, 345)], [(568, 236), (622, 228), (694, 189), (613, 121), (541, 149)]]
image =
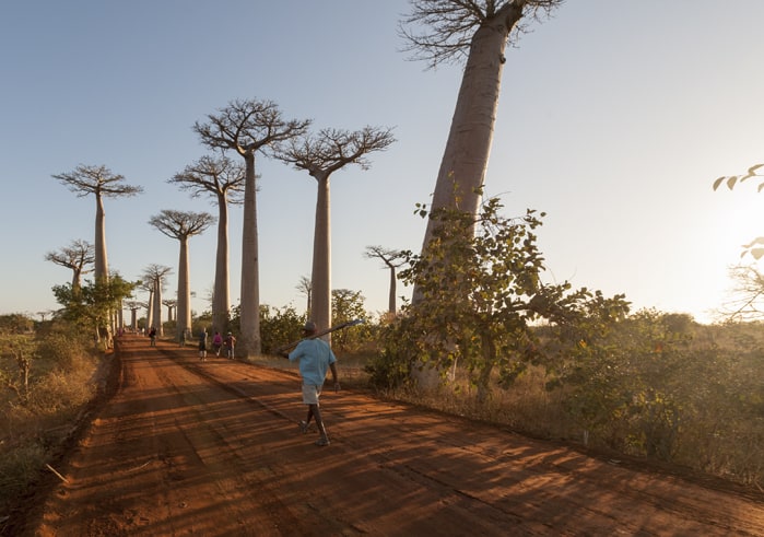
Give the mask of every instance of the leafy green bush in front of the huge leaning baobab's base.
[[(533, 233), (543, 213), (507, 218), (502, 207), (498, 198), (485, 200), (479, 214), (447, 208), (427, 213), (416, 205), (416, 213), (437, 225), (421, 255), (401, 254), (399, 278), (421, 295), (403, 307), (384, 340), (387, 357), (427, 364), (442, 375), (459, 362), (479, 394), (487, 394), (490, 382), (506, 386), (531, 361), (544, 363), (540, 319), (575, 327), (568, 332), (578, 341), (593, 339), (591, 334), (627, 313), (622, 295), (544, 284)], [(565, 345), (549, 348), (559, 353)]]

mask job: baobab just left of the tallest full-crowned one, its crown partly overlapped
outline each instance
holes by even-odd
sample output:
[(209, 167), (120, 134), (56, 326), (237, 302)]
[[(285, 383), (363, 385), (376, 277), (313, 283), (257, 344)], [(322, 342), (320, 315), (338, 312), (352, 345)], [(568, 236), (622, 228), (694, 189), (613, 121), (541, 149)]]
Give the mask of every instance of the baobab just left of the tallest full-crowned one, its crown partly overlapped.
[(212, 292), (212, 326), (221, 332), (228, 329), (231, 311), (228, 203), (243, 202), (244, 178), (244, 166), (223, 155), (202, 156), (168, 180), (181, 190), (190, 191), (192, 198), (203, 195), (213, 196), (218, 203), (218, 252)]

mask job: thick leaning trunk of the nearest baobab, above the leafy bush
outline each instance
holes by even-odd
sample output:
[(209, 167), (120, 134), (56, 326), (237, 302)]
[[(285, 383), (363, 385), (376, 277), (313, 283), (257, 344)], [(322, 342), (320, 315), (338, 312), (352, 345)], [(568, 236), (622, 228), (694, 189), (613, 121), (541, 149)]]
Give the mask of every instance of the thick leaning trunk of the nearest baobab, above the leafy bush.
[[(485, 21), (474, 33), (461, 79), (448, 141), (438, 171), (433, 209), (458, 208), (475, 214), (489, 164), (502, 83), (504, 51), (509, 31), (522, 16), (522, 8), (507, 4), (503, 16)], [(434, 220), (427, 221), (424, 246), (432, 238)], [(471, 231), (471, 230), (470, 230)]]

